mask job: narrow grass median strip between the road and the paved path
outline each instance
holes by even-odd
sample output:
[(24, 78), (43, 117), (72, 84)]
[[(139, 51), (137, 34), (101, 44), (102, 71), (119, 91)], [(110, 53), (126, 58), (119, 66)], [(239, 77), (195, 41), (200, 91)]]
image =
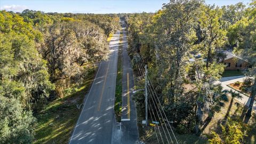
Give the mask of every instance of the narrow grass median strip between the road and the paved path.
[(121, 118), (122, 118), (122, 91), (123, 91), (123, 84), (122, 84), (122, 77), (123, 77), (122, 37), (123, 37), (123, 34), (122, 34), (122, 31), (121, 31), (120, 38), (119, 38), (119, 47), (118, 47), (115, 108), (114, 108), (117, 122), (121, 122)]

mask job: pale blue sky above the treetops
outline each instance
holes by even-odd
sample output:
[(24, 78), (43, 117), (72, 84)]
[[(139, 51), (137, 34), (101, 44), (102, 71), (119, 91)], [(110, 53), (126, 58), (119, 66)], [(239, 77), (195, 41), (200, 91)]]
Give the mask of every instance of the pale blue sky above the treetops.
[[(59, 13), (140, 13), (156, 12), (169, 0), (0, 0), (0, 10), (22, 12), (36, 10)], [(206, 0), (218, 6), (250, 3), (250, 0)]]

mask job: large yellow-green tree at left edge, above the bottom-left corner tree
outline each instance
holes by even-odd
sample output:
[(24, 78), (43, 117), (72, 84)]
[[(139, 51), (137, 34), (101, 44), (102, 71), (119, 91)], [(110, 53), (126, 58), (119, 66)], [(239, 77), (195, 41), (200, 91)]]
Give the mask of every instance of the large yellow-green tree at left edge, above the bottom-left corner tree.
[[(35, 41), (39, 41), (41, 36), (17, 14), (10, 15), (3, 11), (1, 15), (4, 18), (1, 22), (8, 27), (1, 29), (0, 34), (0, 76), (2, 80), (10, 79), (23, 84), (26, 97), (21, 103), (29, 107), (31, 100), (49, 97), (54, 88), (49, 81), (46, 61), (42, 60), (35, 47)], [(33, 33), (38, 33), (38, 37)]]

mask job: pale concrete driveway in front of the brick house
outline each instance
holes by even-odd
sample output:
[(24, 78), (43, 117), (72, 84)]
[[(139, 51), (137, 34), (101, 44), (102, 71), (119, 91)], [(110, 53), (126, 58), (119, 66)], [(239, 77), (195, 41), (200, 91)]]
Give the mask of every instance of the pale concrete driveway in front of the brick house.
[[(218, 81), (218, 82), (221, 83), (223, 90), (233, 90), (230, 87), (228, 87), (227, 85), (231, 84), (231, 83), (235, 83), (237, 81), (243, 82), (245, 78), (246, 78), (245, 76), (222, 77), (220, 79), (220, 81)], [(235, 91), (235, 90), (233, 90), (233, 91)], [(237, 92), (237, 91), (235, 91), (235, 92)], [(237, 92), (237, 93), (242, 95), (242, 99), (236, 99), (236, 100), (239, 101), (240, 103), (243, 103), (243, 105), (249, 106), (251, 98), (247, 97), (246, 95), (244, 95), (240, 92)], [(255, 100), (254, 100), (254, 104), (253, 104), (253, 110), (256, 110), (256, 101)]]

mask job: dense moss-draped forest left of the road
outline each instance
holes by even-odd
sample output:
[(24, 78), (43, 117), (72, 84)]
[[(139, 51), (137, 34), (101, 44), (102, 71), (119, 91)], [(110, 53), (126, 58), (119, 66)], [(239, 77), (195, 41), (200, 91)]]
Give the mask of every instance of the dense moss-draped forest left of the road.
[(0, 11), (0, 143), (31, 143), (44, 105), (107, 58), (116, 14)]

